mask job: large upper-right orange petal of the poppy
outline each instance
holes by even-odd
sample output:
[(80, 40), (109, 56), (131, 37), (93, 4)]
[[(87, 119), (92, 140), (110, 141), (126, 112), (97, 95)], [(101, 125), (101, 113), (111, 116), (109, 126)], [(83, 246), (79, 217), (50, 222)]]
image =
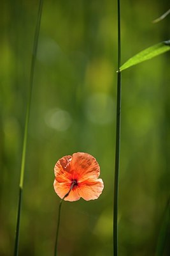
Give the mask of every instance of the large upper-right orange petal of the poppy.
[(71, 159), (71, 172), (73, 179), (79, 182), (96, 180), (100, 175), (100, 166), (96, 159), (87, 153), (74, 153)]

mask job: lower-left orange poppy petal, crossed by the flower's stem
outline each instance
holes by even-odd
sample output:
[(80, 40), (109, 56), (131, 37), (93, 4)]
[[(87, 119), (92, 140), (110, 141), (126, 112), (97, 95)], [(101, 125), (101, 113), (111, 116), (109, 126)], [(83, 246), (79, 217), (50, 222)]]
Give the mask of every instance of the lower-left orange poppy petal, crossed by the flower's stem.
[[(71, 182), (58, 182), (57, 180), (54, 180), (53, 182), (53, 188), (55, 189), (55, 192), (60, 198), (64, 198), (64, 196), (68, 193), (69, 189), (71, 187)], [(65, 201), (77, 201), (80, 199), (80, 195), (78, 194), (78, 190), (76, 187), (74, 187), (70, 192), (69, 195), (64, 198)]]

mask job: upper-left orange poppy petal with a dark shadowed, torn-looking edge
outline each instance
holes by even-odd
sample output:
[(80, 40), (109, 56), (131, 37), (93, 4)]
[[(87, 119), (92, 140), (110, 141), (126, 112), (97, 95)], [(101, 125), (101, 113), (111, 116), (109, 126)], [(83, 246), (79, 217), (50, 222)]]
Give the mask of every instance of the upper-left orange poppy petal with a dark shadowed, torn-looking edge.
[(72, 156), (64, 156), (55, 164), (54, 174), (58, 182), (69, 182), (71, 180), (71, 159)]

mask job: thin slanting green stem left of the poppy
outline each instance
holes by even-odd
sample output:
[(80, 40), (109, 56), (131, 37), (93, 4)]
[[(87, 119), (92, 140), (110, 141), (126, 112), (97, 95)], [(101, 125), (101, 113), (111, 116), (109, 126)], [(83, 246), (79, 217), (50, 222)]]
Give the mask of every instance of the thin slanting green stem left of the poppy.
[(17, 224), (16, 224), (16, 232), (15, 232), (14, 256), (18, 255), (18, 244), (19, 244), (19, 233), (20, 233), (20, 210), (22, 205), (22, 192), (23, 192), (23, 183), (24, 183), (24, 172), (25, 172), (25, 156), (26, 156), (26, 149), (27, 149), (29, 114), (30, 114), (30, 108), (31, 108), (32, 84), (34, 79), (34, 68), (35, 68), (36, 52), (37, 52), (37, 46), (38, 46), (39, 28), (41, 24), (42, 8), (43, 8), (43, 0), (39, 0), (38, 17), (36, 21), (36, 30), (34, 33), (34, 44), (32, 49), (31, 72), (30, 72), (30, 78), (29, 78), (29, 97), (27, 100), (27, 111), (25, 116), (24, 143), (22, 148), (22, 163), (21, 163), (21, 170), (20, 170), (20, 185), (19, 185), (19, 194), (18, 194), (18, 209), (17, 209)]

